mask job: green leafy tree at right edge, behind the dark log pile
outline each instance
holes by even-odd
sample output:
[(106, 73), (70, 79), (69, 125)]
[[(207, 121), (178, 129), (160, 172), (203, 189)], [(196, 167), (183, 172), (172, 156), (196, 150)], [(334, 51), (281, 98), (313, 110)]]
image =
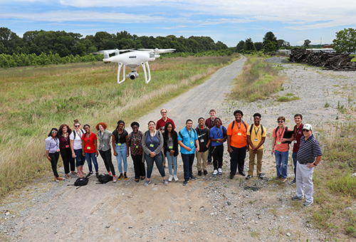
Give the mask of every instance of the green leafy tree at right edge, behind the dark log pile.
[(356, 51), (356, 29), (344, 28), (336, 32), (336, 38), (333, 40), (335, 51), (345, 51), (353, 53)]

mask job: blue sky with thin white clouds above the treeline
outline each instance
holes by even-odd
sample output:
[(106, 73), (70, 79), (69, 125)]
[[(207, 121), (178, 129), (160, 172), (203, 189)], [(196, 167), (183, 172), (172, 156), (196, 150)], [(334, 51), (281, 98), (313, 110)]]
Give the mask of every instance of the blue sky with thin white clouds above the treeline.
[(229, 47), (272, 31), (295, 46), (332, 43), (337, 31), (356, 28), (355, 13), (355, 0), (0, 0), (0, 27), (20, 37), (39, 30), (209, 36)]

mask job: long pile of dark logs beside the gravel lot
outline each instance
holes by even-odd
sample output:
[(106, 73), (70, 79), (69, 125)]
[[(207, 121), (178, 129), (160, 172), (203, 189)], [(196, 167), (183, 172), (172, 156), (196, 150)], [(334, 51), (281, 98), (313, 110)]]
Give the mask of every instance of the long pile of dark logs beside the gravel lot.
[(289, 61), (319, 66), (327, 70), (356, 70), (356, 62), (351, 62), (354, 56), (350, 53), (313, 52), (303, 48), (293, 48)]

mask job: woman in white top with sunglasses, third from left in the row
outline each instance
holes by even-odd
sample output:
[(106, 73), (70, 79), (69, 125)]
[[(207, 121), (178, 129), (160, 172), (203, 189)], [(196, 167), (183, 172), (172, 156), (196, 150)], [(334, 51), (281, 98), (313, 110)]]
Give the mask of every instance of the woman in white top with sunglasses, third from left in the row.
[(72, 157), (76, 159), (75, 166), (77, 167), (77, 176), (84, 177), (86, 174), (84, 172), (84, 163), (85, 163), (85, 156), (83, 156), (82, 151), (82, 136), (84, 134), (84, 130), (80, 129), (80, 122), (79, 120), (74, 120), (74, 130), (69, 135), (70, 140), (70, 149), (72, 151)]

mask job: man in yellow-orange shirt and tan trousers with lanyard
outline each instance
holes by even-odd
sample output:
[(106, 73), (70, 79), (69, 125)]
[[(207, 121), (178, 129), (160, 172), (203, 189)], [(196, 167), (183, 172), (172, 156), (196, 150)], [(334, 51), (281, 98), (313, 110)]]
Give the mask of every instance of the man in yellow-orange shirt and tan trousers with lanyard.
[(247, 143), (249, 145), (248, 154), (250, 155), (249, 169), (246, 180), (253, 177), (253, 169), (255, 166), (255, 157), (257, 154), (256, 173), (259, 179), (262, 176), (262, 157), (263, 157), (263, 143), (266, 140), (266, 129), (261, 125), (261, 114), (256, 112), (253, 115), (253, 124), (247, 130)]

